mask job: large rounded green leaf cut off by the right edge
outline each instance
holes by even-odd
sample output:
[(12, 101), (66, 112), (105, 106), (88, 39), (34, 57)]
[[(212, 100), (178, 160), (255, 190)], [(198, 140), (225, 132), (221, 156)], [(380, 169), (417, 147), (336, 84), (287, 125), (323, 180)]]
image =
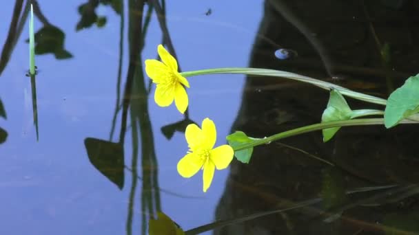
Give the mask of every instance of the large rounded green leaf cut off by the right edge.
[(401, 120), (416, 113), (419, 113), (419, 74), (407, 78), (402, 87), (390, 94), (384, 112), (385, 127), (396, 126)]

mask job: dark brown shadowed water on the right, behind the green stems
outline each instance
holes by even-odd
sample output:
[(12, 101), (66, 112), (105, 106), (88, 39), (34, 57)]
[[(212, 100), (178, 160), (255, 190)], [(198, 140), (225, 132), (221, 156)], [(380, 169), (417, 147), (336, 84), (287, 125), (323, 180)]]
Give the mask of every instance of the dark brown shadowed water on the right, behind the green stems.
[[(294, 71), (386, 98), (417, 73), (413, 22), (418, 8), (415, 1), (267, 0), (258, 32), (263, 38), (256, 38), (249, 67)], [(274, 44), (298, 49), (298, 57), (273, 60)], [(391, 53), (382, 56), (388, 45)], [(263, 137), (320, 122), (327, 98), (314, 87), (249, 77), (232, 131)], [(353, 100), (350, 104), (365, 107)], [(292, 207), (309, 198), (322, 203), (229, 225), (214, 234), (419, 233), (418, 131), (416, 126), (344, 128), (327, 144), (319, 133), (309, 133), (284, 139), (285, 146), (255, 148), (249, 165), (232, 164), (218, 219)], [(345, 193), (380, 185), (397, 187)]]

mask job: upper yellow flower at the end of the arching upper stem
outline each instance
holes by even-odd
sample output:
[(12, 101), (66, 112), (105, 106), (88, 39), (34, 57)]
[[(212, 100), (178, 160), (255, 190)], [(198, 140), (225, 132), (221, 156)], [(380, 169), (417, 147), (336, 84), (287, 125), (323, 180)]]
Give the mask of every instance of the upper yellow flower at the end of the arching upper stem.
[(167, 107), (174, 100), (178, 111), (185, 113), (188, 103), (185, 87), (189, 88), (189, 82), (178, 72), (176, 59), (163, 45), (157, 47), (157, 52), (163, 63), (159, 60), (145, 60), (145, 73), (156, 83), (154, 101), (160, 107)]

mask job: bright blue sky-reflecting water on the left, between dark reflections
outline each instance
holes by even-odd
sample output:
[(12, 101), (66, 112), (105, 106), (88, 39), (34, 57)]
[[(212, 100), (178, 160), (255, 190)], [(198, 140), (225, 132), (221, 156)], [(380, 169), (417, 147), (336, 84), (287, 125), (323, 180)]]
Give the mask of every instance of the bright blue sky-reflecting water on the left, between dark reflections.
[[(57, 60), (51, 54), (35, 58), (40, 71), (37, 76), (39, 142), (32, 123), (30, 78), (25, 76), (28, 22), (1, 74), (0, 98), (8, 118), (0, 119), (0, 126), (8, 131), (8, 139), (0, 146), (0, 201), (3, 202), (0, 234), (126, 233), (131, 174), (125, 170), (125, 186), (119, 190), (90, 164), (83, 144), (85, 137), (109, 138), (116, 99), (120, 18), (112, 8), (100, 6), (97, 12), (108, 18), (105, 27), (99, 29), (93, 25), (76, 32), (80, 19), (76, 9), (81, 3), (84, 2), (39, 1), (48, 21), (65, 32), (65, 49), (74, 56), (66, 60)], [(183, 71), (247, 66), (262, 3), (218, 0), (182, 4), (167, 1), (166, 4), (167, 25)], [(228, 9), (238, 4), (240, 10), (232, 14)], [(128, 63), (126, 5), (122, 82)], [(1, 3), (1, 43), (6, 40), (13, 7), (12, 1)], [(208, 8), (212, 9), (209, 16), (205, 15)], [(41, 22), (35, 19), (37, 32)], [(161, 31), (153, 14), (143, 60), (156, 58), (160, 42)], [(243, 82), (244, 76), (190, 78), (190, 117), (198, 124), (205, 117), (214, 120), (217, 145), (225, 144), (224, 137), (229, 134), (241, 102)], [(163, 212), (185, 230), (211, 223), (229, 170), (216, 172), (207, 193), (202, 192), (201, 173), (191, 179), (178, 175), (176, 164), (187, 152), (185, 137), (177, 132), (169, 141), (160, 128), (183, 116), (174, 105), (165, 109), (157, 107), (152, 96), (148, 104), (159, 163), (159, 186), (185, 196), (161, 192)], [(131, 153), (128, 128), (127, 166), (130, 166)], [(141, 223), (141, 181), (136, 188), (133, 209), (132, 234), (139, 234), (141, 226), (145, 226)]]

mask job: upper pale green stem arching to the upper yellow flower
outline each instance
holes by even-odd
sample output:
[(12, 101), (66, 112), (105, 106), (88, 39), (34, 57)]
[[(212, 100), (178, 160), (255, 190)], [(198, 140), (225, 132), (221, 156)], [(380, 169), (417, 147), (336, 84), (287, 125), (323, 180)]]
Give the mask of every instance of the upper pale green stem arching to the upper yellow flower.
[(247, 75), (257, 75), (257, 76), (272, 76), (272, 77), (288, 78), (288, 79), (297, 80), (300, 82), (307, 82), (311, 85), (315, 85), (317, 87), (320, 87), (326, 90), (336, 89), (344, 96), (349, 96), (356, 100), (363, 100), (365, 102), (381, 104), (381, 105), (387, 104), (387, 100), (382, 99), (382, 98), (369, 96), (364, 93), (359, 93), (356, 91), (351, 91), (345, 87), (340, 87), (330, 82), (325, 82), (325, 81), (317, 80), (317, 79), (310, 78), (307, 76), (302, 76), (299, 74), (294, 74), (287, 71), (280, 71), (280, 70), (275, 70), (275, 69), (219, 68), (219, 69), (202, 69), (202, 70), (197, 70), (197, 71), (186, 71), (186, 72), (181, 73), (181, 75), (185, 77), (205, 75), (205, 74), (247, 74)]

